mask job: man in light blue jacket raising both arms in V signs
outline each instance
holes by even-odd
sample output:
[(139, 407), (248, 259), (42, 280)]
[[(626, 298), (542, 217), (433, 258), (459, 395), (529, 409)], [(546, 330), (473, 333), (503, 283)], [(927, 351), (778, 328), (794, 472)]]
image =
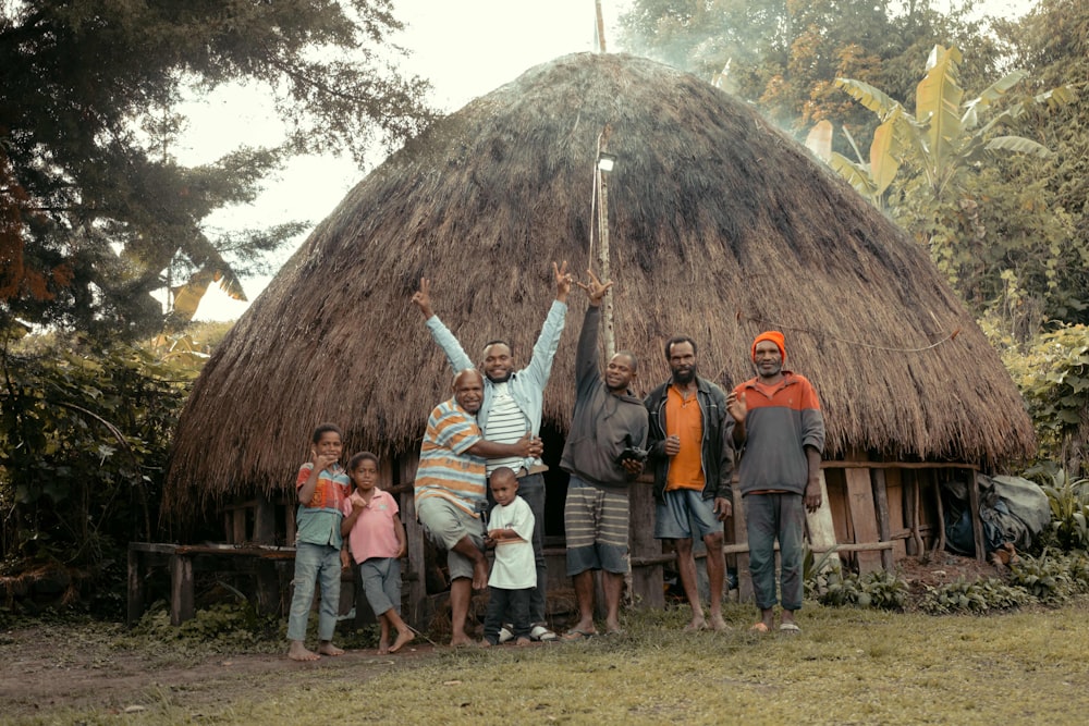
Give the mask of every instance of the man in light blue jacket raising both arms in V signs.
[[(552, 263), (555, 276), (555, 300), (544, 318), (537, 343), (534, 345), (529, 365), (514, 369), (514, 355), (506, 341), (490, 341), (485, 345), (484, 359), (479, 367), (484, 370), (484, 403), (477, 420), (484, 438), (497, 443), (514, 443), (527, 431), (540, 435), (541, 413), (544, 407), (544, 386), (552, 372), (552, 359), (560, 345), (560, 335), (567, 318), (567, 294), (571, 292), (572, 275), (567, 263)], [(473, 368), (475, 364), (465, 354), (462, 344), (439, 320), (431, 308), (430, 281), (420, 280), (419, 290), (412, 302), (419, 308), (431, 336), (439, 344), (454, 371)], [(518, 478), (518, 495), (529, 503), (537, 526), (534, 528), (534, 558), (537, 566), (537, 587), (529, 602), (529, 616), (534, 624), (530, 636), (534, 640), (554, 640), (555, 633), (546, 623), (544, 596), (547, 592), (547, 567), (544, 564), (544, 476), (548, 467), (540, 457), (491, 458), (488, 459), (488, 476), (499, 467), (510, 467)]]

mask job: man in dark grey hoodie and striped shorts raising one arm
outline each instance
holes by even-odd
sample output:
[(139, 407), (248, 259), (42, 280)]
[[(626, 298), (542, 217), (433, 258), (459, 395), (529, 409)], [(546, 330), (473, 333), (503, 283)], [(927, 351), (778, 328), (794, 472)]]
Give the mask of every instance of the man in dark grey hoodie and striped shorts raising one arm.
[(647, 444), (647, 409), (629, 392), (638, 361), (633, 353), (615, 354), (601, 374), (598, 328), (601, 298), (611, 286), (590, 272), (578, 286), (589, 295), (575, 357), (575, 413), (560, 468), (570, 475), (563, 521), (567, 539), (567, 575), (575, 587), (578, 622), (564, 640), (597, 635), (594, 625), (594, 570), (602, 570), (605, 635), (619, 633), (620, 598), (628, 571), (629, 483), (643, 471)]

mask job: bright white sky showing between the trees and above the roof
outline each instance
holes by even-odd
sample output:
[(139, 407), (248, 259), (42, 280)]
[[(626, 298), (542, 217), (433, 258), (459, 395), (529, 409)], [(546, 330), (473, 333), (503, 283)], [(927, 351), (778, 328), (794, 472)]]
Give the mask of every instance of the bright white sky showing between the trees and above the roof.
[[(601, 2), (608, 49), (616, 50), (615, 20), (629, 0)], [(1032, 0), (986, 0), (981, 12), (1015, 16), (1033, 4)], [(396, 17), (406, 25), (396, 42), (412, 53), (401, 66), (406, 74), (430, 79), (431, 102), (444, 112), (456, 111), (535, 65), (595, 49), (595, 0), (395, 0), (394, 8)], [(236, 87), (194, 103), (179, 153), (182, 162), (210, 162), (242, 144), (279, 143), (279, 123), (267, 108), (256, 90)], [(224, 211), (211, 222), (224, 229), (292, 220), (317, 224), (367, 171), (350, 159), (298, 158), (278, 180), (269, 182), (253, 205)], [(304, 238), (292, 244), (279, 262), (285, 261)], [(269, 280), (243, 282), (250, 300)], [(248, 303), (232, 300), (218, 287), (210, 287), (196, 319), (234, 320), (247, 307)]]

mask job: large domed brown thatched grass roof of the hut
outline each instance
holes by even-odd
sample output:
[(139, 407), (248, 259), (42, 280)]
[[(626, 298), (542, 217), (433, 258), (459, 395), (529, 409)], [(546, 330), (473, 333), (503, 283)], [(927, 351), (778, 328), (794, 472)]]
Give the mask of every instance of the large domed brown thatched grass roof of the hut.
[[(673, 334), (734, 383), (752, 374), (752, 337), (776, 328), (818, 387), (831, 456), (987, 465), (1033, 450), (1010, 377), (925, 250), (729, 95), (648, 60), (575, 54), (436, 123), (315, 230), (206, 366), (167, 507), (290, 488), (326, 420), (351, 451), (415, 450), (451, 379), (409, 302), (421, 276), (472, 356), (505, 337), (524, 362), (550, 263), (585, 279), (605, 124), (616, 341), (641, 357), (641, 392), (665, 378)], [(560, 431), (585, 307), (574, 290), (547, 391)]]

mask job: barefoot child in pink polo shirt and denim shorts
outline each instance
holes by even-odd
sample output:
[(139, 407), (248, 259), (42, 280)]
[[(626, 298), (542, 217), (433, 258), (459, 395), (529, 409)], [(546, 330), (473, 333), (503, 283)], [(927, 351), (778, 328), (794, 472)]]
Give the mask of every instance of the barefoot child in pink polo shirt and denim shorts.
[[(378, 653), (396, 653), (414, 637), (399, 614), (401, 557), (408, 551), (405, 528), (397, 516), (396, 499), (378, 489), (377, 456), (370, 452), (356, 454), (347, 464), (347, 475), (355, 491), (344, 502), (341, 534), (347, 538), (367, 602), (381, 626)], [(391, 628), (397, 631), (393, 645)]]

